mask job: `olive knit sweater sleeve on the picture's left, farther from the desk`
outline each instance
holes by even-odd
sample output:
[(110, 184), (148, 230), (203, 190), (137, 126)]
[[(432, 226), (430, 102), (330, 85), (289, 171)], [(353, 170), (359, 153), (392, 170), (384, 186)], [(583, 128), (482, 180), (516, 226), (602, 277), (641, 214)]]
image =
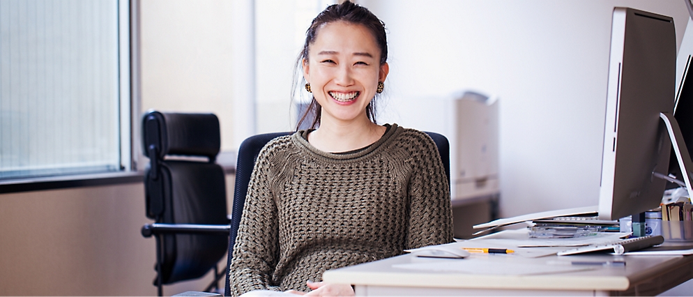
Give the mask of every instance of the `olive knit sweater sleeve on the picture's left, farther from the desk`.
[(252, 290), (280, 291), (272, 280), (279, 261), (279, 226), (268, 172), (267, 150), (261, 151), (250, 177), (234, 255), (229, 266), (231, 296)]

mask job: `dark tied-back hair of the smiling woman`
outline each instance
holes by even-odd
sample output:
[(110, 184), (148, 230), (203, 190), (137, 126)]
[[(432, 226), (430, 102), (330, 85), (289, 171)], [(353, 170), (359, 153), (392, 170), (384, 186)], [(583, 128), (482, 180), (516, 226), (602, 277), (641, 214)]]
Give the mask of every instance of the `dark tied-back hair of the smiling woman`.
[[(325, 8), (317, 17), (313, 19), (310, 27), (305, 31), (305, 43), (303, 44), (303, 50), (298, 54), (298, 59), (296, 59), (296, 65), (294, 66), (295, 76), (293, 90), (296, 90), (298, 86), (298, 77), (300, 75), (300, 67), (303, 66), (303, 60), (308, 59), (308, 50), (310, 45), (315, 42), (318, 29), (324, 24), (331, 22), (348, 22), (351, 24), (360, 24), (365, 26), (372, 34), (376, 40), (376, 44), (380, 47), (380, 65), (383, 65), (388, 61), (388, 38), (385, 32), (385, 23), (378, 19), (373, 13), (363, 6), (358, 6), (351, 1), (344, 1), (341, 4), (333, 4)], [(305, 83), (304, 78), (300, 79), (301, 82)], [(291, 92), (291, 98), (294, 98), (294, 92)], [(310, 119), (310, 115), (313, 115), (313, 121), (310, 124), (310, 128), (317, 128), (320, 125), (320, 112), (322, 107), (318, 104), (314, 97), (310, 100), (310, 105), (303, 111), (303, 114), (298, 120), (296, 125), (296, 130), (301, 126), (303, 121)], [(375, 123), (375, 106), (374, 100), (372, 100), (366, 107), (366, 115), (368, 119)]]

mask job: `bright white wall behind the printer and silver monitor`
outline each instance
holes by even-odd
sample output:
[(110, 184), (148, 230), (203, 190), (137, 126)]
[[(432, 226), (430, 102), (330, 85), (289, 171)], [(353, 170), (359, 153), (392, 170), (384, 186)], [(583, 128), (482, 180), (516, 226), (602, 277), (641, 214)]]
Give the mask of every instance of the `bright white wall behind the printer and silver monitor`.
[(597, 204), (614, 6), (673, 17), (678, 45), (689, 17), (683, 0), (359, 3), (389, 30), (390, 118), (438, 119), (398, 105), (459, 90), (498, 95), (504, 217)]

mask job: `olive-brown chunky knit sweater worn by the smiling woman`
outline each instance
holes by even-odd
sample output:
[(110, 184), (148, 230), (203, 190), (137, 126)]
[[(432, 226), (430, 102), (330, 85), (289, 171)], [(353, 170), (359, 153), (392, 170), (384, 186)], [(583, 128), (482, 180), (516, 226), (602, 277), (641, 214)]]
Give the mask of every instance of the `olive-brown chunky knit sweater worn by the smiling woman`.
[(452, 242), (448, 179), (433, 140), (390, 128), (355, 153), (326, 153), (301, 137), (259, 153), (229, 267), (231, 295), (310, 291), (328, 269)]

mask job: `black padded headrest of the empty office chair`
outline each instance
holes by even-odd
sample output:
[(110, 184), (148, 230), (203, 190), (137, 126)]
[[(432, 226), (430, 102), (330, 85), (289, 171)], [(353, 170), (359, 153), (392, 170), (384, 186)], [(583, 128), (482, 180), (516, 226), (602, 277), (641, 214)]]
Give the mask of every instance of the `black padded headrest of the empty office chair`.
[(183, 114), (147, 111), (142, 117), (142, 144), (156, 147), (157, 157), (165, 155), (206, 156), (212, 162), (221, 146), (219, 119), (214, 114)]

